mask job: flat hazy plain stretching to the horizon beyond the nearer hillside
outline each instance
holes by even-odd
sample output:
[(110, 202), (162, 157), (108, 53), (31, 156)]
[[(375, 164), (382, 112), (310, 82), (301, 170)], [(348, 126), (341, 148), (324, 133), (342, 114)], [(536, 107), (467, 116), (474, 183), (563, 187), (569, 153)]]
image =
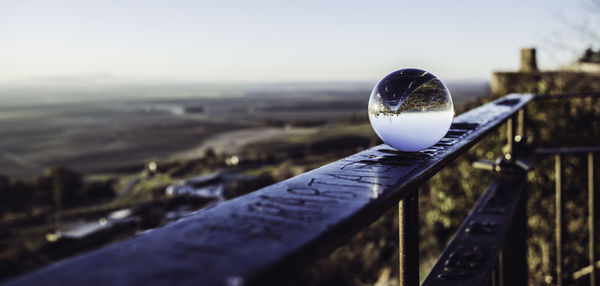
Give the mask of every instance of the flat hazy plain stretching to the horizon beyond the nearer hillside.
[[(364, 121), (368, 88), (315, 86), (252, 87), (235, 93), (197, 86), (64, 94), (56, 88), (2, 90), (0, 174), (31, 177), (53, 165), (85, 174), (127, 173), (152, 160), (198, 156), (208, 138), (220, 136), (216, 146), (212, 140), (216, 150), (230, 150), (228, 144), (239, 148), (240, 131), (227, 133), (233, 130), (252, 128), (253, 138), (272, 139), (298, 133), (289, 127)], [(458, 109), (488, 92), (486, 82), (449, 87)], [(223, 133), (227, 135), (219, 135)]]

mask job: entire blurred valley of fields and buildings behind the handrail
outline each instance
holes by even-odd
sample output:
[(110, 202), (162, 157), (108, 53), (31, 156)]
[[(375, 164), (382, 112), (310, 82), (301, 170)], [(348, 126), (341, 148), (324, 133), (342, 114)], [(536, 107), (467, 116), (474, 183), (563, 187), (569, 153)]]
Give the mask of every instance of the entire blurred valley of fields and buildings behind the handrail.
[[(487, 93), (486, 83), (459, 87), (457, 112)], [(0, 107), (0, 227), (8, 230), (0, 232), (0, 280), (379, 144), (369, 94), (292, 88), (8, 101)], [(215, 174), (222, 192), (213, 197), (166, 192)], [(129, 216), (110, 219), (115, 212)]]

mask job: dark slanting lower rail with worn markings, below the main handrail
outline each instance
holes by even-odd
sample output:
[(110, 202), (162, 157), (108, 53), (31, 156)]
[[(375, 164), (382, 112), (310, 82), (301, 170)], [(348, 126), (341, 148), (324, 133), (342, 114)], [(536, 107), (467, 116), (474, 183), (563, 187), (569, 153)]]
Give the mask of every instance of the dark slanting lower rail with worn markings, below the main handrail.
[[(494, 178), (425, 278), (423, 286), (486, 285), (494, 280), (492, 272), (496, 259), (505, 243), (511, 240), (508, 230), (513, 227), (511, 222), (522, 204), (525, 182), (524, 171), (503, 173)], [(503, 275), (507, 271), (513, 273), (511, 267), (507, 267), (512, 263), (508, 258), (513, 255), (507, 257), (506, 251), (503, 259), (498, 260), (500, 273), (494, 281), (509, 278), (510, 281), (504, 281), (507, 282), (505, 285), (525, 285), (526, 280), (515, 283), (519, 278)]]

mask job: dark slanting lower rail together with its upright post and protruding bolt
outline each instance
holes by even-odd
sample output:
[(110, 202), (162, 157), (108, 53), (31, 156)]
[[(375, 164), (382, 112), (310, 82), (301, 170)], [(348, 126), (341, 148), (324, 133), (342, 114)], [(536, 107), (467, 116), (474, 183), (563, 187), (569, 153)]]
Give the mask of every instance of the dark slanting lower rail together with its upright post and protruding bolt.
[[(525, 109), (508, 118), (504, 158), (476, 161), (494, 178), (422, 285), (527, 285)], [(411, 283), (410, 285), (418, 285)]]

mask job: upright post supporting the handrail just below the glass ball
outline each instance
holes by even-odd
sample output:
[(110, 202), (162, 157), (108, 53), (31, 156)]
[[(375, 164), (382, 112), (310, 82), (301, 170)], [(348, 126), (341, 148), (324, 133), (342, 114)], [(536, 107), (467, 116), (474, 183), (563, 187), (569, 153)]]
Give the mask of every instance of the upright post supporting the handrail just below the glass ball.
[(398, 204), (400, 285), (419, 285), (419, 195), (417, 188)]

